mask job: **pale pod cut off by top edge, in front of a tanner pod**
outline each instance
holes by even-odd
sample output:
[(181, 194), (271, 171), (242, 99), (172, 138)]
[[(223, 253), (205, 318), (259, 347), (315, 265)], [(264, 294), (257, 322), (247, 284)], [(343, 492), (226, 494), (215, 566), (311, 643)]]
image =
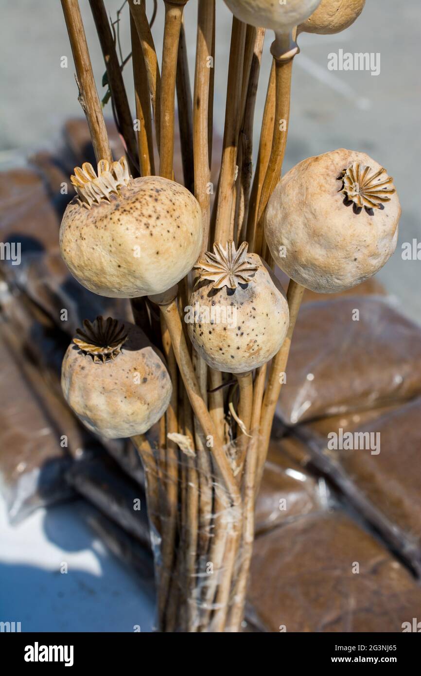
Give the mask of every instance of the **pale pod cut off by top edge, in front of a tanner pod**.
[(320, 0), (224, 0), (232, 14), (256, 28), (271, 28), (285, 33), (301, 24), (316, 9)]

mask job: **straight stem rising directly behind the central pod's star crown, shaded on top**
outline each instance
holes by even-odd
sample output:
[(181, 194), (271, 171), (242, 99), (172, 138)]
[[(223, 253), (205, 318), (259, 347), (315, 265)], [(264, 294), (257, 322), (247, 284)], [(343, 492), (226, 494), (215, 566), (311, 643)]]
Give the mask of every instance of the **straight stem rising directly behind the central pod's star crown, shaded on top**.
[(234, 236), (232, 231), (232, 208), (235, 193), (246, 29), (246, 24), (243, 24), (243, 22), (235, 17), (232, 18), (224, 140), (222, 143), (222, 160), (218, 195), (216, 198), (215, 241), (219, 241), (223, 246), (226, 245), (228, 239), (233, 239)]

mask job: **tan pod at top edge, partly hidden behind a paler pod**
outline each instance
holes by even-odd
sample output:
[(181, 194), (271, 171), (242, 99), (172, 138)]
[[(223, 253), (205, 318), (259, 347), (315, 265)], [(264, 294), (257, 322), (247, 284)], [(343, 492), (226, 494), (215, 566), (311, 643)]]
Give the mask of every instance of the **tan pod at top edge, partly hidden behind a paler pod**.
[(353, 24), (366, 0), (322, 0), (312, 16), (298, 26), (299, 33), (339, 33)]

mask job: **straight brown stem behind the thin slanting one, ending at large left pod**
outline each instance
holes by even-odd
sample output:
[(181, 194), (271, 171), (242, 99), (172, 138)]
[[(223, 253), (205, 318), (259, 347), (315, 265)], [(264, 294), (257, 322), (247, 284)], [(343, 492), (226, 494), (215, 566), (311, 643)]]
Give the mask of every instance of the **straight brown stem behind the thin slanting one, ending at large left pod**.
[(147, 86), (147, 70), (142, 46), (137, 34), (136, 24), (130, 14), (130, 35), (132, 39), (132, 66), (134, 80), (134, 98), (136, 101), (136, 117), (139, 120), (137, 130), (137, 147), (141, 176), (155, 174), (153, 158), (151, 98)]

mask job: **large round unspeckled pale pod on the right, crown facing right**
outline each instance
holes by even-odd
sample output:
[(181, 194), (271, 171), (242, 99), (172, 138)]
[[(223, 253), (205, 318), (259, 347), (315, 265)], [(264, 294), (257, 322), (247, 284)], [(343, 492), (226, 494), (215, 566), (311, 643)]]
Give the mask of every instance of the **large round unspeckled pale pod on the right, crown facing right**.
[(297, 164), (268, 202), (265, 236), (278, 266), (318, 293), (376, 274), (395, 251), (393, 179), (365, 153), (339, 149)]

